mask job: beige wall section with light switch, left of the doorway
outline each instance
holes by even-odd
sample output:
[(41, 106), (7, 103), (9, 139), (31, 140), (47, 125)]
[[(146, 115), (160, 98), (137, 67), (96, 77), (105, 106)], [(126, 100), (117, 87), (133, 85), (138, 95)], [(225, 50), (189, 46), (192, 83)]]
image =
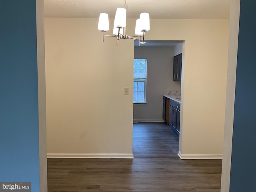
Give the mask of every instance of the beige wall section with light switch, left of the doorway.
[(132, 154), (133, 42), (102, 43), (97, 27), (45, 19), (48, 153)]

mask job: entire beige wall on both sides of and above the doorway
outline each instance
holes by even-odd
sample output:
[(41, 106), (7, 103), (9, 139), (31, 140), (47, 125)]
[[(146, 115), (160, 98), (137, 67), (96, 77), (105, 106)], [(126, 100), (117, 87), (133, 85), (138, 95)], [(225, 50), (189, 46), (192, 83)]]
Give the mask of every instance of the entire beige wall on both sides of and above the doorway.
[[(102, 43), (97, 22), (45, 19), (48, 153), (132, 153), (133, 41)], [(134, 26), (128, 19), (128, 34)], [(222, 154), (228, 27), (229, 20), (151, 20), (146, 40), (186, 41), (182, 154)]]

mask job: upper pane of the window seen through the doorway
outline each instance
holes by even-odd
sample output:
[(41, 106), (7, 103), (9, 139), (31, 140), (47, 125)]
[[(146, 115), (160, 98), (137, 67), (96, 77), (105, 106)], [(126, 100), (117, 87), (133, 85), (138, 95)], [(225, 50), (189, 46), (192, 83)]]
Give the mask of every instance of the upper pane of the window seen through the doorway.
[(146, 78), (147, 77), (147, 60), (134, 59), (133, 63), (133, 78)]

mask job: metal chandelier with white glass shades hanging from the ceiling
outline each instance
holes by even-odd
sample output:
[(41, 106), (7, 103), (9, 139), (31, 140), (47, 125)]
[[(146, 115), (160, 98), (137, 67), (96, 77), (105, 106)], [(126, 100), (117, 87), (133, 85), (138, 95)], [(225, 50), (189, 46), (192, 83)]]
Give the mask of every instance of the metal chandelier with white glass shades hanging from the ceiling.
[[(140, 19), (136, 20), (135, 26), (135, 36), (126, 35), (126, 9), (128, 5), (126, 4), (126, 0), (124, 0), (124, 8), (116, 9), (116, 16), (114, 19), (114, 35), (105, 35), (104, 33), (109, 30), (109, 22), (108, 22), (108, 14), (101, 13), (98, 23), (98, 30), (102, 32), (102, 42), (104, 42), (104, 37), (116, 37), (116, 45), (118, 45), (118, 40), (120, 39), (133, 39), (139, 40), (140, 44), (144, 44), (144, 36), (145, 33), (150, 30), (149, 24), (149, 14), (141, 13)], [(142, 42), (141, 42), (142, 38)]]

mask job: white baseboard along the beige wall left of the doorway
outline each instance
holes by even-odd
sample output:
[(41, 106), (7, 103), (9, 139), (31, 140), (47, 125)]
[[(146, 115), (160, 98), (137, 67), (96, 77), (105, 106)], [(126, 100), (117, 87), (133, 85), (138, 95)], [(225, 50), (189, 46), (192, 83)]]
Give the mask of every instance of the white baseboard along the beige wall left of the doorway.
[(47, 158), (84, 158), (84, 159), (133, 159), (133, 154), (125, 154), (125, 153), (86, 153), (86, 154), (68, 154), (68, 153), (47, 153)]

